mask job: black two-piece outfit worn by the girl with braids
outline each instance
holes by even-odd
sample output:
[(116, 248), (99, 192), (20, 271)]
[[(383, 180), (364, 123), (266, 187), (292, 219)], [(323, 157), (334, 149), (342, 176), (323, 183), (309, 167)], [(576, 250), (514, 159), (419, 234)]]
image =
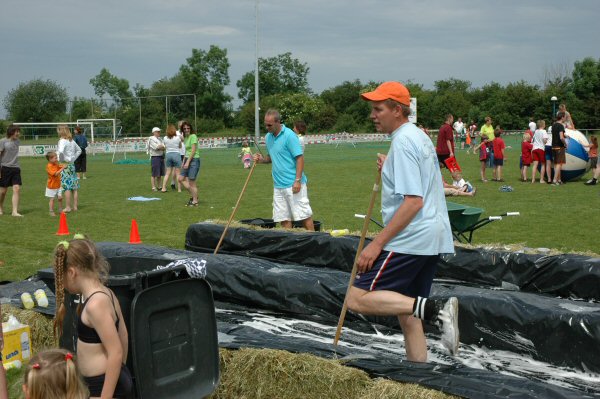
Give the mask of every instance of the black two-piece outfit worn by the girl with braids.
[[(117, 331), (119, 331), (119, 314), (117, 313), (117, 308), (115, 307), (115, 300), (113, 298), (112, 293), (109, 295), (104, 291), (96, 291), (93, 292), (85, 302), (83, 302), (83, 306), (81, 307), (81, 312), (77, 317), (77, 337), (81, 342), (85, 342), (87, 344), (101, 344), (102, 340), (100, 336), (96, 332), (95, 328), (87, 326), (81, 320), (81, 314), (85, 309), (85, 305), (87, 305), (88, 301), (91, 297), (96, 295), (97, 293), (102, 293), (110, 297), (110, 301), (113, 304), (113, 309), (115, 311), (115, 315), (117, 316), (117, 321), (115, 322), (115, 327)], [(94, 377), (83, 377), (88, 389), (90, 390), (90, 396), (100, 396), (102, 395), (102, 388), (104, 387), (104, 379), (106, 374), (97, 375)], [(132, 398), (133, 397), (133, 381), (131, 378), (131, 373), (127, 369), (127, 366), (124, 364), (121, 365), (121, 372), (119, 374), (119, 379), (117, 381), (117, 386), (115, 387), (115, 392), (113, 394), (115, 398)]]

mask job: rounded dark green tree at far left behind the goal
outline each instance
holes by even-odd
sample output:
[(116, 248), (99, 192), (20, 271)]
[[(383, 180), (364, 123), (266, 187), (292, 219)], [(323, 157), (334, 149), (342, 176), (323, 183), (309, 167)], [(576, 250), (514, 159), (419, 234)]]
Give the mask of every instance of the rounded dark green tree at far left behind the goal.
[(49, 122), (64, 117), (69, 96), (52, 80), (19, 83), (4, 98), (8, 117), (18, 122)]

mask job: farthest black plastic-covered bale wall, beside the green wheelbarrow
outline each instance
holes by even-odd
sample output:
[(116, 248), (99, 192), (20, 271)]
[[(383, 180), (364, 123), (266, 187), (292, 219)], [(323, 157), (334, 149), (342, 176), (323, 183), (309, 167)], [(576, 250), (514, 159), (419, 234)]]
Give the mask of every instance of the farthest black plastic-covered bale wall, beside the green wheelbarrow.
[[(186, 233), (186, 248), (212, 253), (223, 228), (212, 223), (190, 225)], [(230, 228), (219, 251), (279, 263), (350, 271), (358, 241), (356, 236), (331, 237), (327, 233)], [(456, 247), (455, 251), (454, 255), (442, 257), (437, 278), (461, 280), (468, 285), (600, 301), (600, 258), (528, 255), (461, 247)]]

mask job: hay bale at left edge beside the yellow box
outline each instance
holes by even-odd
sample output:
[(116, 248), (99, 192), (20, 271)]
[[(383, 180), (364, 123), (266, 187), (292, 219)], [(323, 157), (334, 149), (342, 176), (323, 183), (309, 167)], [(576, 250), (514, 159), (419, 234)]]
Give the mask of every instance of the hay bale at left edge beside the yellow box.
[(22, 324), (31, 329), (32, 354), (46, 348), (56, 348), (58, 341), (54, 338), (53, 319), (33, 310), (17, 308), (11, 305), (2, 306), (2, 321), (8, 320), (8, 315), (14, 315)]

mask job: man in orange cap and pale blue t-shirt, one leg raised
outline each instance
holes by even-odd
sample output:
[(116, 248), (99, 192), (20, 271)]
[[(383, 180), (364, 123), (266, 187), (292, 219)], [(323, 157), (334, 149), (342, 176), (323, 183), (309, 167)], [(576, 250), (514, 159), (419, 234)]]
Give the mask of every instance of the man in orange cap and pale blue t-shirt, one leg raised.
[(391, 134), (392, 143), (387, 156), (377, 154), (385, 227), (360, 254), (348, 307), (363, 314), (397, 316), (408, 360), (427, 361), (421, 320), (437, 325), (442, 344), (455, 354), (458, 300), (427, 299), (439, 254), (454, 252), (435, 148), (408, 121), (410, 93), (404, 85), (385, 82), (361, 96), (371, 102), (377, 131)]

